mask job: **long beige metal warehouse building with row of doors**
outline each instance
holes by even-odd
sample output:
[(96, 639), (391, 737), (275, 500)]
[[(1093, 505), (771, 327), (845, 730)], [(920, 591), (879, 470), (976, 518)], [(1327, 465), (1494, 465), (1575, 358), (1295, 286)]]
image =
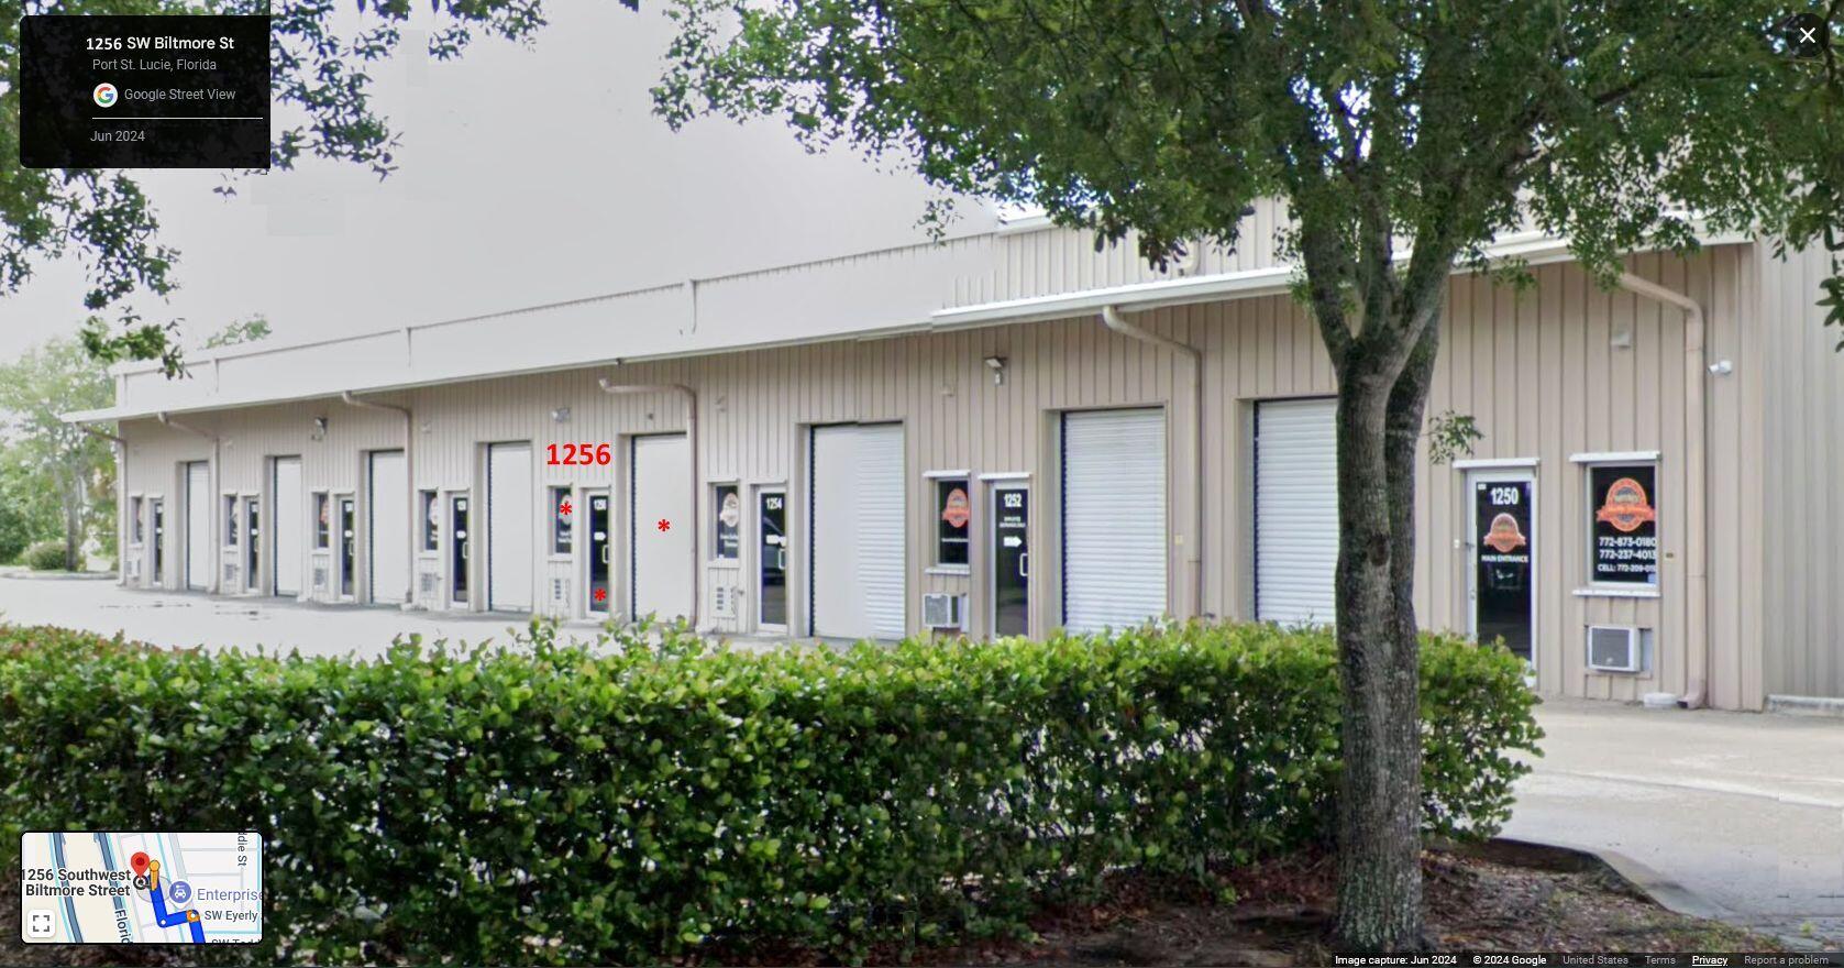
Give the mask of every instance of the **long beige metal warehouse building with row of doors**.
[[(354, 607), (974, 636), (1331, 616), (1333, 376), (1261, 243), (1154, 271), (1042, 219), (116, 371), (122, 583)], [(1822, 264), (1711, 238), (1599, 289), (1459, 275), (1424, 623), (1536, 688), (1844, 695)]]

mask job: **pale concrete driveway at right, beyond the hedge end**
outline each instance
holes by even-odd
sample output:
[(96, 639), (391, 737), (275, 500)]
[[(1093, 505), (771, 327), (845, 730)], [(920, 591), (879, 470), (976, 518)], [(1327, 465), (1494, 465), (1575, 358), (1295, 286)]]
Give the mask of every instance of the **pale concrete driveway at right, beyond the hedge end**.
[(1709, 915), (1844, 946), (1844, 719), (1551, 699), (1508, 837), (1615, 850)]

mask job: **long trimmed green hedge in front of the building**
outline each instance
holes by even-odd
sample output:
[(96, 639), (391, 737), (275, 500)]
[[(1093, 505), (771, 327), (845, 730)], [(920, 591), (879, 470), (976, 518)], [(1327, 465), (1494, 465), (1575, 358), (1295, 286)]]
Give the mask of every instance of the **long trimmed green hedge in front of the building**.
[[(1490, 833), (1534, 699), (1503, 649), (1424, 655), (1427, 830)], [(1337, 717), (1330, 638), (1263, 625), (843, 653), (533, 625), (374, 662), (0, 629), (0, 861), (20, 830), (258, 830), (264, 957), (854, 957), (1326, 839)]]

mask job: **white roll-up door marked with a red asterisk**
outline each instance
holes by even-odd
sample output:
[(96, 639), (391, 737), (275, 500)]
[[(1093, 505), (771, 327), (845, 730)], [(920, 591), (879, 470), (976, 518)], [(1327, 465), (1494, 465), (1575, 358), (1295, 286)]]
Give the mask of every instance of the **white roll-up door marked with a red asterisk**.
[[(684, 433), (634, 437), (629, 503), (632, 616), (692, 614), (692, 444)], [(664, 527), (660, 527), (664, 524)]]

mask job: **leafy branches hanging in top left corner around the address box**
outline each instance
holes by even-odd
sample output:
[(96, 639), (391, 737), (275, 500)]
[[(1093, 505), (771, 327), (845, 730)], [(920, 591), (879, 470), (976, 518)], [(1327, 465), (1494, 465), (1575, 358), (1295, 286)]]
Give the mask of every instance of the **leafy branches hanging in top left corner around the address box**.
[[(372, 65), (398, 53), (411, 0), (354, 0), (363, 15), (341, 30), (336, 0), (22, 0), (0, 13), (0, 308), (55, 258), (83, 264), (89, 289), (85, 348), (103, 361), (162, 360), (177, 372), (175, 319), (149, 319), (135, 297), (166, 297), (179, 286), (179, 253), (160, 242), (155, 207), (129, 171), (18, 166), (20, 15), (186, 15), (266, 13), (271, 17), (269, 81), (277, 125), (269, 164), (293, 168), (302, 157), (363, 164), (378, 177), (395, 170), (396, 133), (372, 107)], [(638, 0), (621, 0), (634, 7)], [(542, 0), (430, 0), (433, 30), (426, 53), (459, 57), (476, 33), (522, 41), (544, 26)], [(234, 194), (227, 177), (219, 194)], [(111, 319), (103, 319), (109, 313)]]

